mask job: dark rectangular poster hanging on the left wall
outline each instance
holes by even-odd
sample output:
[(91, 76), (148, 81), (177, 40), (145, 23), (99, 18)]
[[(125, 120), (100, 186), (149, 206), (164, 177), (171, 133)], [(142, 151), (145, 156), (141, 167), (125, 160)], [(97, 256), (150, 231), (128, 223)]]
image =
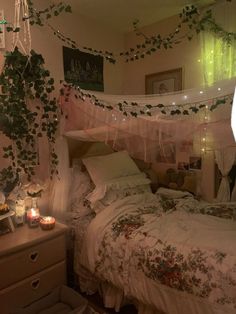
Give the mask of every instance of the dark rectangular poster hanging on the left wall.
[(64, 77), (82, 89), (104, 91), (103, 57), (63, 47)]

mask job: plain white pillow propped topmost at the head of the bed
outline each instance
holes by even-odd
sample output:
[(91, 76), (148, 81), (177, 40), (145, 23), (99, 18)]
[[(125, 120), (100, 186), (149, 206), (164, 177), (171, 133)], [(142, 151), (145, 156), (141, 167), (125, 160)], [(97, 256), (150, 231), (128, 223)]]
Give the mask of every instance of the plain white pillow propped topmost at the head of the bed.
[(96, 186), (116, 178), (141, 173), (126, 151), (83, 158), (82, 161)]

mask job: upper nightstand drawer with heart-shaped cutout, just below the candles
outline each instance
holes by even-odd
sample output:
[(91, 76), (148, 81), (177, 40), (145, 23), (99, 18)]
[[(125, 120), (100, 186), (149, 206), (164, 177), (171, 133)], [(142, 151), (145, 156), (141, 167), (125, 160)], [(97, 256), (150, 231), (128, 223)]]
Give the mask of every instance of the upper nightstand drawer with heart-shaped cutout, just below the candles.
[(0, 289), (65, 259), (65, 236), (60, 235), (0, 259)]

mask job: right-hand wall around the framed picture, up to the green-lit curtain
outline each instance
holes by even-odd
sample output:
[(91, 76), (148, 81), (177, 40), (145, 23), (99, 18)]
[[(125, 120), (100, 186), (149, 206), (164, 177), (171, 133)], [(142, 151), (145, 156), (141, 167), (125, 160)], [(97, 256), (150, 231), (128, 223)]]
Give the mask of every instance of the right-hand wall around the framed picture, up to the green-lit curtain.
[[(142, 28), (147, 36), (160, 33), (162, 36), (175, 30), (178, 17), (174, 16), (159, 23)], [(198, 62), (201, 50), (200, 38), (194, 37), (192, 41), (183, 41), (173, 49), (160, 49), (144, 59), (127, 63), (124, 71), (124, 93), (145, 94), (145, 75), (167, 71), (176, 68), (183, 70), (183, 89), (202, 85), (201, 65)], [(125, 36), (126, 49), (141, 43), (140, 37), (133, 32)]]

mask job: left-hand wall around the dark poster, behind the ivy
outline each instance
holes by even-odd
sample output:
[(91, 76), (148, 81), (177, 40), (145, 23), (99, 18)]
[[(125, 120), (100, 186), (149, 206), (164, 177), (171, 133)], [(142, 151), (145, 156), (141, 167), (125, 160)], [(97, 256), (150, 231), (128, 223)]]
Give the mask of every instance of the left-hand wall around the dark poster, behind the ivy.
[[(48, 6), (48, 1), (40, 1), (37, 8)], [(1, 1), (0, 9), (4, 9), (5, 18), (13, 21), (14, 1)], [(72, 7), (73, 10), (73, 7)], [(123, 35), (93, 20), (85, 18), (77, 13), (63, 13), (61, 16), (50, 19), (50, 23), (65, 35), (75, 40), (79, 46), (93, 47), (98, 50), (123, 50)], [(59, 81), (64, 79), (62, 41), (53, 35), (48, 27), (32, 26), (32, 48), (41, 53), (45, 59), (46, 67), (55, 78), (55, 83), (59, 86)], [(11, 35), (6, 34), (6, 48), (11, 47)], [(1, 62), (1, 60), (0, 60)], [(0, 64), (1, 66), (1, 64)], [(105, 93), (122, 93), (123, 65), (117, 63), (113, 65), (104, 61), (104, 88)]]

